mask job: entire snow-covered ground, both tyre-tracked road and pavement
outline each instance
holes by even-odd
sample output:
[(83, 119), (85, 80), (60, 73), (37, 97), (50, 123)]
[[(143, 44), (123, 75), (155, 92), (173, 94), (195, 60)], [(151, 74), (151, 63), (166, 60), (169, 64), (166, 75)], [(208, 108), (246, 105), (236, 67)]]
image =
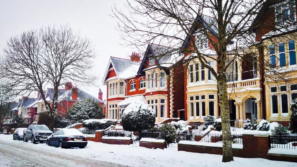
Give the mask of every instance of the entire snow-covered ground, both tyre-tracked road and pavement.
[(0, 166), (261, 166), (295, 167), (296, 163), (261, 158), (238, 158), (222, 163), (222, 155), (177, 151), (177, 144), (167, 149), (147, 149), (133, 145), (110, 145), (89, 141), (84, 149), (61, 149), (30, 141), (12, 140), (0, 134)]

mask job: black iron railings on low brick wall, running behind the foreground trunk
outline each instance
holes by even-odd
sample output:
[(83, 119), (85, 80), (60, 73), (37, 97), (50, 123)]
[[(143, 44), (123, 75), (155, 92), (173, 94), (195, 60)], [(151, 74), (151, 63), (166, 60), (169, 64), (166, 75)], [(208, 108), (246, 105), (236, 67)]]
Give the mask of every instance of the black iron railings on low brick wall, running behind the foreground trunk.
[[(231, 140), (233, 144), (242, 145), (242, 134), (233, 133), (231, 135)], [(192, 131), (188, 132), (178, 132), (176, 136), (176, 141), (198, 141), (204, 143), (223, 143), (221, 133), (194, 133)]]

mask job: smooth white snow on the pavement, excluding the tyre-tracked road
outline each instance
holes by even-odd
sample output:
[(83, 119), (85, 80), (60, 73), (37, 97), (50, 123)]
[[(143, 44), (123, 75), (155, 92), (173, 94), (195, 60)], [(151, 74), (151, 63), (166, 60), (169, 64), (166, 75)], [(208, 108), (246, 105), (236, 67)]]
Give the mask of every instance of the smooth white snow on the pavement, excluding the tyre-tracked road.
[[(177, 144), (171, 144), (167, 149), (147, 149), (133, 145), (111, 145), (88, 141), (84, 149), (61, 149), (46, 144), (24, 143), (12, 140), (11, 135), (0, 134), (1, 143), (18, 144), (40, 149), (44, 152), (55, 152), (65, 156), (75, 156), (89, 161), (105, 161), (119, 163), (125, 166), (199, 166), (199, 167), (229, 167), (229, 166), (261, 166), (261, 167), (295, 167), (296, 163), (271, 161), (262, 158), (234, 157), (233, 162), (222, 163), (222, 155), (200, 154), (177, 151)], [(1, 157), (0, 157), (1, 158)], [(1, 161), (0, 161), (1, 163)]]

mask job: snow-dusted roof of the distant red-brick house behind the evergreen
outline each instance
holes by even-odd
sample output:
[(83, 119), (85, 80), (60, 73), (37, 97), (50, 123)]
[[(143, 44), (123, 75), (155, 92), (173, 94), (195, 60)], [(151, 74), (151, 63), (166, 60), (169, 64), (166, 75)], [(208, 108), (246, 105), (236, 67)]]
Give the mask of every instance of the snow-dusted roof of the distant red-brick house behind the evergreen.
[[(58, 102), (61, 102), (61, 101), (64, 101), (64, 100), (66, 100), (66, 101), (77, 101), (77, 100), (73, 100), (72, 99), (72, 94), (73, 94), (73, 91), (72, 90), (66, 90), (65, 92), (64, 92), (64, 94), (62, 94), (61, 96), (59, 96), (58, 97)], [(86, 99), (89, 99), (89, 98), (91, 98), (91, 99), (94, 99), (96, 102), (98, 102), (98, 103), (104, 103), (104, 101), (103, 100), (100, 100), (100, 99), (98, 99), (97, 97), (94, 97), (94, 96), (92, 96), (91, 94), (89, 94), (89, 93), (87, 93), (87, 92), (84, 92), (83, 90), (81, 90), (81, 89), (78, 89), (77, 90), (77, 98), (78, 98), (78, 100), (81, 100), (81, 99), (84, 99), (84, 98), (86, 98)]]

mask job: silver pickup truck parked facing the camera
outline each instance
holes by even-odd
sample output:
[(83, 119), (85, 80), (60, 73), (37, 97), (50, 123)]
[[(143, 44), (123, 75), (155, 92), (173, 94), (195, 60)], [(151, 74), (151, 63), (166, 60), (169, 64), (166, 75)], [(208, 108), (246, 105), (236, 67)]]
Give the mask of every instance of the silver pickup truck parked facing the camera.
[(31, 140), (32, 143), (39, 141), (40, 143), (47, 140), (48, 136), (52, 135), (53, 132), (46, 125), (29, 125), (29, 127), (24, 130), (24, 142)]

